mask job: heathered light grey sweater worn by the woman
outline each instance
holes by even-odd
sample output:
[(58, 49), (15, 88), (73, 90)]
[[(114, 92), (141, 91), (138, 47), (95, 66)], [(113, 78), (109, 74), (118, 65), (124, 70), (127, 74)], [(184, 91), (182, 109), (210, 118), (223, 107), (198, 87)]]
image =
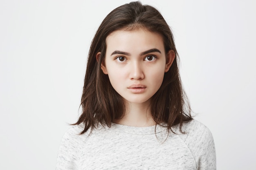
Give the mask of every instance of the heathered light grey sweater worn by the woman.
[(82, 130), (73, 126), (63, 136), (56, 170), (216, 170), (213, 137), (196, 120), (168, 137), (162, 126), (112, 124), (78, 135)]

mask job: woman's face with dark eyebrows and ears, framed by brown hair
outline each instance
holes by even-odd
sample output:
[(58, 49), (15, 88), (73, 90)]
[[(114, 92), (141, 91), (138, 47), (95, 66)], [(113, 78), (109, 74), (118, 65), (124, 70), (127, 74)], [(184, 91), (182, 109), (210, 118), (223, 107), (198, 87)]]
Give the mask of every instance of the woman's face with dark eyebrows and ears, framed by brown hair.
[(166, 54), (162, 36), (144, 29), (114, 31), (106, 43), (101, 69), (115, 91), (126, 102), (149, 102), (174, 60), (174, 51)]

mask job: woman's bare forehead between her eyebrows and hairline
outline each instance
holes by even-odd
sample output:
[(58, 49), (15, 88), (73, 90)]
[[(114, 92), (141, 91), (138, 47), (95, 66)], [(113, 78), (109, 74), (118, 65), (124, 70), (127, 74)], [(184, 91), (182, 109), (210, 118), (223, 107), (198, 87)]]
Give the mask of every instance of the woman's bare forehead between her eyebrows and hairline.
[(141, 53), (141, 51), (153, 48), (164, 51), (162, 35), (145, 29), (114, 31), (106, 38), (106, 44), (106, 53), (111, 53), (111, 51), (115, 50)]

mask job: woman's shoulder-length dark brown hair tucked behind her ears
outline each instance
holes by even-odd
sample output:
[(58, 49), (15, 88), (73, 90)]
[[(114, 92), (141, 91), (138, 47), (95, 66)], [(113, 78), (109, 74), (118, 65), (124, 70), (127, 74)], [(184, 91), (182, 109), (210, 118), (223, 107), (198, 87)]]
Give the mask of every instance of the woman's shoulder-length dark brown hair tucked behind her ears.
[[(154, 7), (142, 5), (140, 2), (130, 2), (111, 11), (92, 40), (81, 99), (82, 114), (73, 124), (84, 124), (85, 128), (81, 134), (90, 127), (92, 130), (98, 124), (110, 127), (115, 119), (124, 116), (124, 101), (110, 84), (108, 75), (102, 72), (101, 63), (104, 63), (106, 38), (110, 33), (120, 29), (138, 28), (161, 34), (166, 53), (169, 50), (175, 51), (175, 60), (171, 68), (164, 74), (161, 87), (151, 98), (150, 109), (153, 119), (157, 124), (165, 123), (168, 132), (176, 124), (180, 124), (181, 130), (182, 123), (192, 119), (189, 101), (180, 81), (178, 54), (171, 29)], [(101, 52), (101, 55), (97, 62), (98, 52)]]

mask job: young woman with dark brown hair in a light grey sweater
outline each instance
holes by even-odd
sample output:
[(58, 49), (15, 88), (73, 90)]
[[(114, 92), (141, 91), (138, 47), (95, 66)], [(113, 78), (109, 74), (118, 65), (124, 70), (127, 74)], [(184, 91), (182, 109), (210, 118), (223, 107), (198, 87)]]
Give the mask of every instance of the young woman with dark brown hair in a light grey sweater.
[(173, 35), (155, 8), (131, 2), (92, 40), (83, 112), (61, 141), (57, 170), (215, 170), (211, 132), (192, 119)]

